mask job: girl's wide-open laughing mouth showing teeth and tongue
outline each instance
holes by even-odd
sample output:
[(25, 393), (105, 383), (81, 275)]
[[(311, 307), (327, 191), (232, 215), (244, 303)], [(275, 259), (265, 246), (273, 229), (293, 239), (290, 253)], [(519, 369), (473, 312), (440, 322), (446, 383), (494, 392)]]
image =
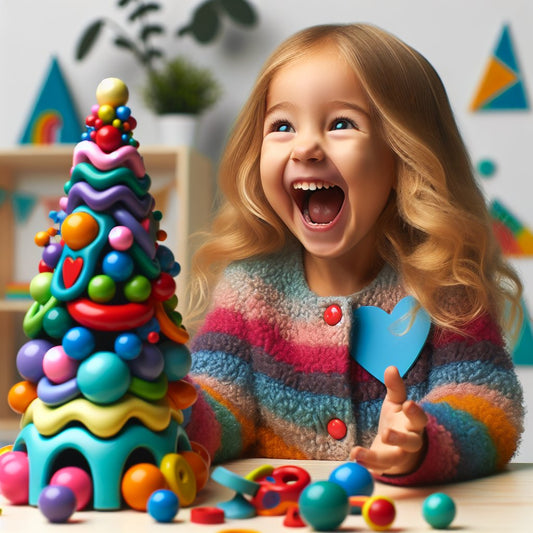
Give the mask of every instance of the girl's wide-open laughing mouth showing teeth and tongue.
[(344, 191), (324, 181), (296, 181), (292, 196), (309, 224), (331, 224), (344, 203)]

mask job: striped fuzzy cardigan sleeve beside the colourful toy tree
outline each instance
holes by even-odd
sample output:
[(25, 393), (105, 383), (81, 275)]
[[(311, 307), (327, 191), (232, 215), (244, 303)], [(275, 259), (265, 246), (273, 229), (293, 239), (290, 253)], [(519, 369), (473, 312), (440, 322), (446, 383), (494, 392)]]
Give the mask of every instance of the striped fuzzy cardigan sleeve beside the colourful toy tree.
[(198, 389), (187, 433), (203, 444), (214, 462), (242, 456), (255, 441), (256, 401), (252, 393), (246, 321), (233, 302), (238, 291), (223, 279), (214, 306), (194, 338), (189, 379)]

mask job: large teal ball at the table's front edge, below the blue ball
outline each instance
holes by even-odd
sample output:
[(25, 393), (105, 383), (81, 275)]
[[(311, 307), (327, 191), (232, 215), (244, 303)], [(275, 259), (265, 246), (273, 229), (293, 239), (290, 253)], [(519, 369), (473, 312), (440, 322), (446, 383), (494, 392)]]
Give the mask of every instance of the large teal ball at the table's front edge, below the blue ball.
[(346, 491), (332, 481), (307, 485), (298, 506), (302, 520), (316, 531), (337, 529), (350, 511)]

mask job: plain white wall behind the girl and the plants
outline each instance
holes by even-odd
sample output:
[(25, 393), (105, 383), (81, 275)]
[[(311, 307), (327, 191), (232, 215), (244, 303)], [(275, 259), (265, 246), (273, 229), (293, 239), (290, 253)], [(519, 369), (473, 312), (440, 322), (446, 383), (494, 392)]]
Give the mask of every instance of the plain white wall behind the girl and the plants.
[[(455, 109), (474, 163), (490, 157), (498, 172), (483, 186), (487, 197), (498, 197), (533, 227), (531, 197), (533, 167), (530, 112), (470, 113), (486, 62), (504, 23), (511, 26), (518, 59), (533, 101), (533, 2), (530, 0), (252, 0), (260, 24), (252, 30), (226, 29), (216, 45), (201, 47), (189, 38), (166, 39), (169, 52), (183, 52), (210, 66), (224, 87), (220, 103), (202, 119), (198, 148), (217, 160), (228, 129), (244, 102), (256, 73), (270, 51), (305, 26), (327, 22), (372, 22), (397, 34), (422, 52), (436, 67)], [(173, 29), (190, 16), (199, 2), (164, 2), (165, 21)], [(50, 56), (58, 56), (81, 117), (94, 103), (101, 79), (124, 79), (129, 105), (139, 126), (141, 143), (157, 138), (154, 120), (139, 97), (142, 72), (131, 57), (111, 45), (110, 34), (82, 63), (74, 60), (78, 37), (89, 21), (102, 15), (123, 20), (111, 0), (0, 0), (0, 146), (17, 143), (25, 126)], [(533, 308), (533, 272), (524, 271), (526, 297)], [(527, 391), (533, 390), (531, 368), (520, 369)], [(528, 404), (533, 404), (531, 394)], [(529, 419), (529, 428), (533, 420)], [(533, 461), (533, 432), (525, 439), (520, 460)]]

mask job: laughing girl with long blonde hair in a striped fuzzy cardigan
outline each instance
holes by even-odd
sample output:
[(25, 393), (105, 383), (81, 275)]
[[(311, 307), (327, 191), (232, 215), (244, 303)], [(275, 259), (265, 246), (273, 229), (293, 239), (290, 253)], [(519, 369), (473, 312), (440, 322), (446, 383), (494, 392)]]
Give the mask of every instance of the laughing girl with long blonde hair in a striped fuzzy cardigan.
[[(521, 286), (492, 236), (442, 83), (368, 25), (267, 61), (196, 258), (190, 437), (238, 456), (357, 460), (382, 479), (482, 476), (522, 393), (502, 340)], [(507, 313), (508, 314), (508, 313)]]

